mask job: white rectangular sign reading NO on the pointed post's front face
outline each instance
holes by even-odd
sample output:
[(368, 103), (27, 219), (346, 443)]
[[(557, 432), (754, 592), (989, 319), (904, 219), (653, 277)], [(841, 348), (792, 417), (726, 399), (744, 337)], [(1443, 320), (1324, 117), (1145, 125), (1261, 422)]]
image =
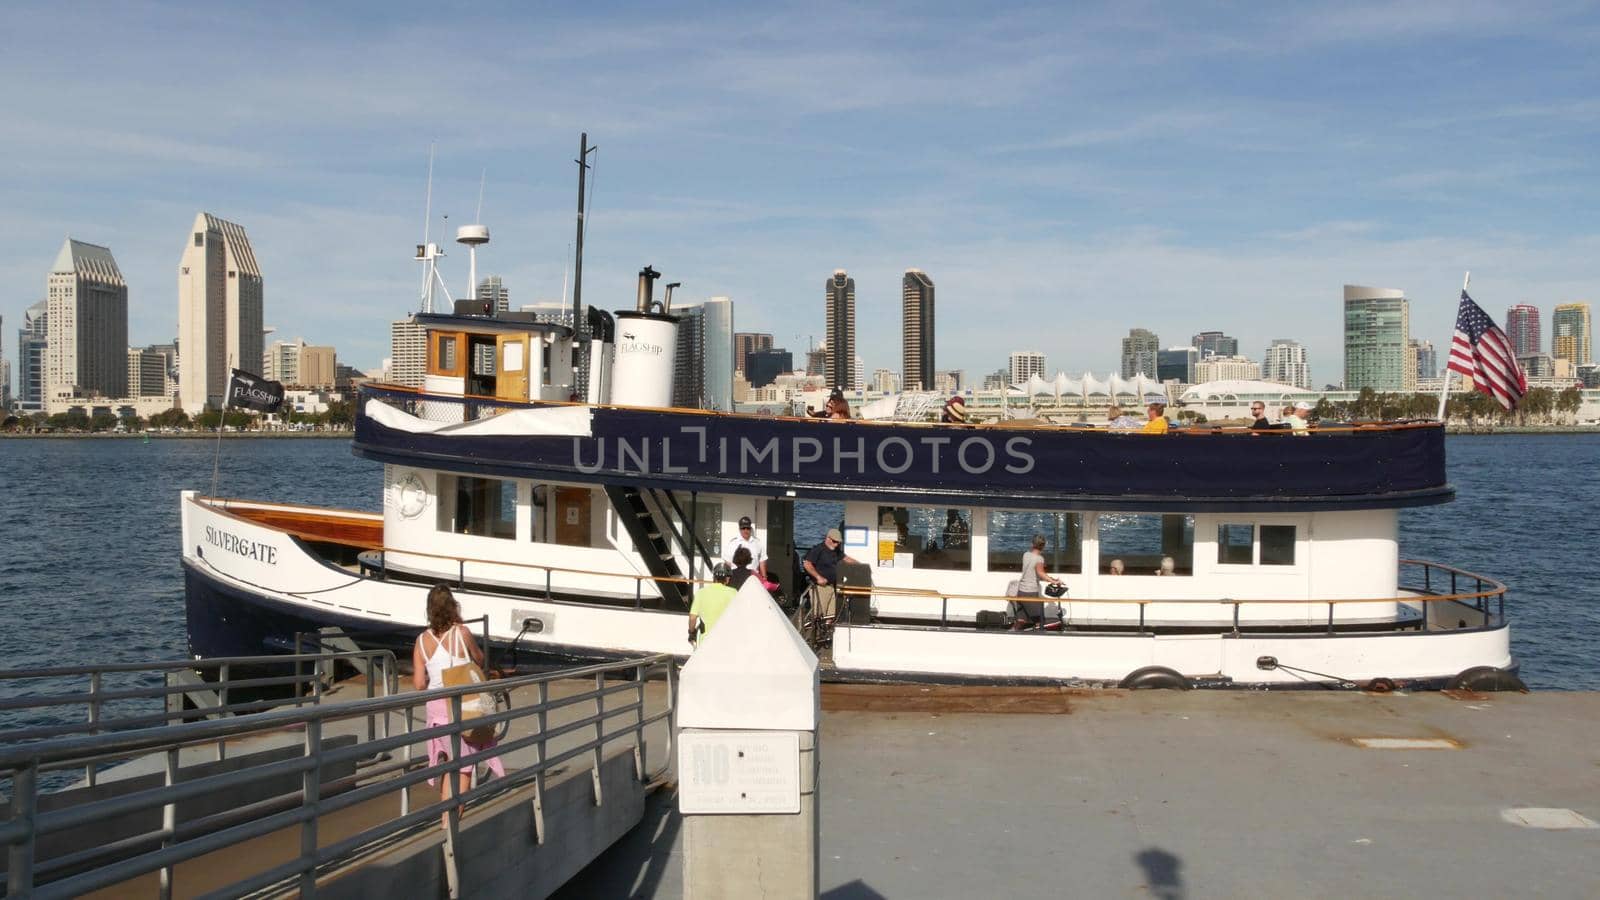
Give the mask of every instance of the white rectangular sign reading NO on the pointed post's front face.
[(798, 814), (800, 735), (683, 730), (678, 812)]

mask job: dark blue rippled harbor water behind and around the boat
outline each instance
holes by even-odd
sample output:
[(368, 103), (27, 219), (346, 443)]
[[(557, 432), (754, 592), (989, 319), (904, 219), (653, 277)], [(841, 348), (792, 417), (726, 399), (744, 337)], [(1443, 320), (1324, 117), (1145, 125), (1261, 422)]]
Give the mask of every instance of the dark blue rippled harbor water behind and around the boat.
[[(1402, 512), (1402, 556), (1510, 586), (1522, 676), (1536, 690), (1600, 689), (1600, 436), (1450, 437), (1454, 503)], [(178, 492), (208, 492), (218, 444), (202, 439), (0, 440), (0, 668), (186, 653)], [(378, 509), (382, 469), (347, 440), (229, 439), (218, 493)], [(800, 504), (802, 544), (838, 520)], [(0, 727), (6, 722), (0, 719)]]

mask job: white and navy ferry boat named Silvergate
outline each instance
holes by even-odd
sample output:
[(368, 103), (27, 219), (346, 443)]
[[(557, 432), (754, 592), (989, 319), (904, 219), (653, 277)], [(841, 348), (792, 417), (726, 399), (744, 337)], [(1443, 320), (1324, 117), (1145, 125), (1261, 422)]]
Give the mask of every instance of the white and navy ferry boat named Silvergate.
[[(186, 492), (192, 652), (325, 628), (408, 645), (448, 583), (518, 663), (686, 657), (690, 599), (738, 520), (795, 597), (822, 538), (795, 533), (795, 504), (821, 500), (870, 572), (845, 591), (830, 679), (1520, 687), (1504, 585), (1400, 556), (1400, 511), (1454, 498), (1440, 423), (1155, 436), (672, 408), (677, 320), (646, 275), (635, 309), (589, 307), (587, 372), (566, 325), (418, 314), (422, 384), (358, 404), (382, 512)], [(1013, 631), (1034, 535), (1067, 594)]]

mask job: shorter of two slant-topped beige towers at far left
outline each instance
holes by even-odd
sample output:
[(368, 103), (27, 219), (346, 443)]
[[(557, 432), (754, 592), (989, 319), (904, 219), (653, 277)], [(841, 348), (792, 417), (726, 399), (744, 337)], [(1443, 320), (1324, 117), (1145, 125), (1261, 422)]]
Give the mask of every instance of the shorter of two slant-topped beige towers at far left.
[(128, 282), (110, 250), (62, 242), (45, 279), (45, 405), (61, 396), (126, 397)]

